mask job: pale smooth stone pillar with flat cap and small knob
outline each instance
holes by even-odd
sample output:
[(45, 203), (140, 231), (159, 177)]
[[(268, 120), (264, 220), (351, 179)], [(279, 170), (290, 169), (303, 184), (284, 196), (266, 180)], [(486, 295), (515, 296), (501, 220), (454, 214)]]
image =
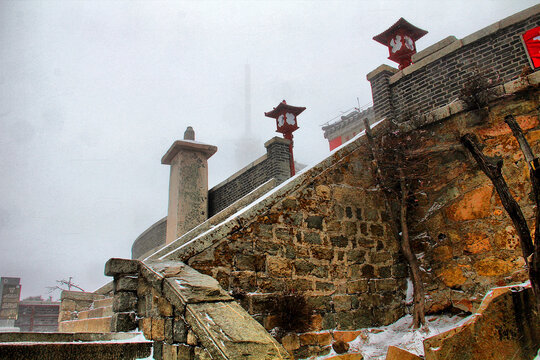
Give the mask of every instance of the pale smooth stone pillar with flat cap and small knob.
[(208, 218), (208, 158), (217, 147), (199, 143), (189, 126), (161, 159), (171, 165), (165, 243), (169, 244)]

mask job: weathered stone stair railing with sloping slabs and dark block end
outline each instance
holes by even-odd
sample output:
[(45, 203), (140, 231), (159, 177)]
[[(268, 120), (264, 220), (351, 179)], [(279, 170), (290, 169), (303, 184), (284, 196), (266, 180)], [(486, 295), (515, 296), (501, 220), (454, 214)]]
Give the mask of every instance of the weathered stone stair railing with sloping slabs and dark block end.
[(113, 332), (142, 330), (154, 358), (288, 359), (287, 351), (210, 276), (179, 261), (110, 259)]

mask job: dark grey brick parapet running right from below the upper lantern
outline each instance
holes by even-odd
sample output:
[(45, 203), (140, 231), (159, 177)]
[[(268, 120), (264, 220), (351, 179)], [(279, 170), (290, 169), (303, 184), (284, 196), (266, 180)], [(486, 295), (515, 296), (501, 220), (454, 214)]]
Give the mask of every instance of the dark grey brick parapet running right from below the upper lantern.
[(447, 54), (435, 61), (415, 66), (429, 60), (424, 59), (410, 69), (397, 72), (388, 79), (387, 89), (381, 88), (381, 81), (384, 83), (386, 79), (370, 79), (377, 118), (392, 115), (399, 121), (403, 114), (426, 112), (452, 102), (474, 69), (486, 71), (492, 80), (499, 78), (504, 82), (519, 75), (523, 66), (530, 68), (520, 35), (540, 23), (539, 6), (523, 14), (528, 17), (515, 22), (520, 16), (516, 14), (455, 41), (440, 50)]

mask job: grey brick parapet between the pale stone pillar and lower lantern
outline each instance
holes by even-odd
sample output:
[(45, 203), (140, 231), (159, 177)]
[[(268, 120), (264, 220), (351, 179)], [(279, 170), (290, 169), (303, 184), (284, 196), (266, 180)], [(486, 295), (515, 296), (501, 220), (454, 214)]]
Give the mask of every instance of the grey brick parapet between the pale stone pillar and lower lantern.
[(290, 175), (289, 141), (275, 137), (265, 144), (264, 159), (255, 161), (208, 191), (209, 216), (213, 216), (268, 180), (280, 184)]

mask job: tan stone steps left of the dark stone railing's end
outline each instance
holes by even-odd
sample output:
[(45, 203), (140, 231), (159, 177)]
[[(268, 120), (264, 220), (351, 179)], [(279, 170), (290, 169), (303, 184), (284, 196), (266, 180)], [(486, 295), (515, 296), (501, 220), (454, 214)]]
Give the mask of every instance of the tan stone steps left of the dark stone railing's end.
[(58, 331), (108, 333), (111, 329), (113, 298), (96, 293), (64, 291)]

